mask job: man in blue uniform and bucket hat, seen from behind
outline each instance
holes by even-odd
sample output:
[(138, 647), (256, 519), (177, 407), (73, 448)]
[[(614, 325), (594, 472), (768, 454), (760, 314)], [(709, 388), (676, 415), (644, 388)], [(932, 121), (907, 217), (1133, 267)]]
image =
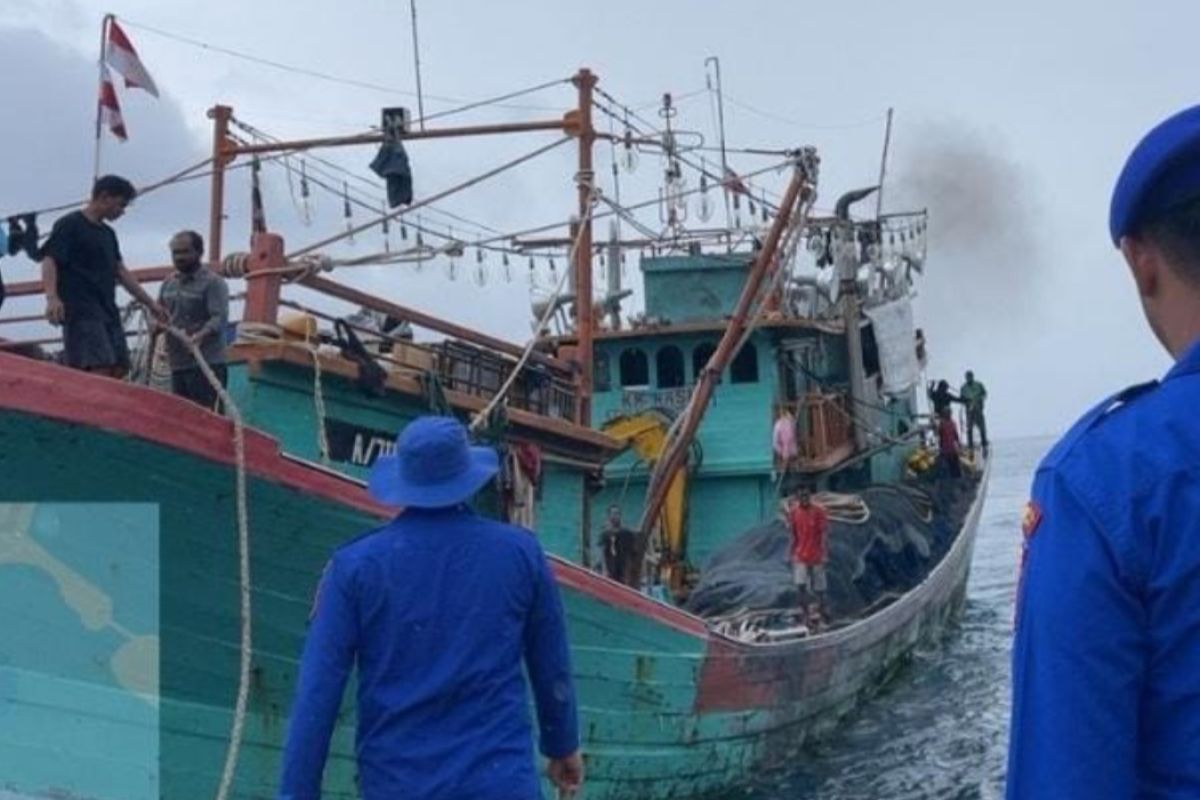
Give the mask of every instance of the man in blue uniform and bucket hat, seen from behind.
[(524, 663), (547, 774), (583, 778), (566, 630), (538, 540), (464, 505), (497, 471), (448, 417), (409, 423), (371, 493), (404, 506), (340, 547), (313, 603), (283, 753), (281, 800), (317, 800), (342, 691), (358, 663), (364, 800), (541, 796)]

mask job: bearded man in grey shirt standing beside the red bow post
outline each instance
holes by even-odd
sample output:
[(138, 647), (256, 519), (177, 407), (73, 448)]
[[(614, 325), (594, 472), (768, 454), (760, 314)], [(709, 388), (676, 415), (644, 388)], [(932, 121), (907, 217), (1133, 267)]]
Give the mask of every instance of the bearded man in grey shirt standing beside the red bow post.
[[(169, 324), (188, 335), (200, 355), (226, 385), (224, 327), (229, 318), (229, 289), (224, 278), (200, 263), (204, 239), (194, 230), (181, 230), (170, 239), (170, 260), (175, 275), (167, 278), (158, 294)], [(180, 397), (211, 409), (217, 392), (204, 377), (191, 348), (175, 336), (167, 336), (170, 361), (170, 390)]]

